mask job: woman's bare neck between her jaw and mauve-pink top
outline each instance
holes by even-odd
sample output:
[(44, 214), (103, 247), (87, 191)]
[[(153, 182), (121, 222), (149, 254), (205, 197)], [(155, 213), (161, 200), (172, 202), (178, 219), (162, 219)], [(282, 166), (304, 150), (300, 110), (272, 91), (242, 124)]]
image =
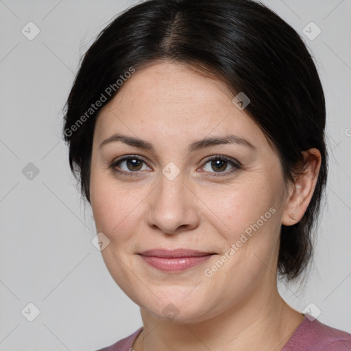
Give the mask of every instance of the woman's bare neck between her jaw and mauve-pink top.
[(141, 317), (144, 327), (134, 342), (135, 351), (279, 351), (303, 320), (277, 289), (262, 289), (254, 298), (202, 322), (165, 321), (144, 308)]

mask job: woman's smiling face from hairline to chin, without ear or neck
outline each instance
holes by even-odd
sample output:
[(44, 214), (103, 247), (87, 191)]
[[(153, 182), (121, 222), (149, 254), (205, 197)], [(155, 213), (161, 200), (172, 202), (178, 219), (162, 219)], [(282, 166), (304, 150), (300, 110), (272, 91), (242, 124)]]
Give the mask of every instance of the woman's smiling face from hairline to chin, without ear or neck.
[[(136, 71), (120, 89), (97, 119), (90, 178), (112, 278), (164, 319), (196, 322), (258, 301), (276, 286), (287, 198), (265, 135), (225, 84), (179, 64)], [(108, 141), (117, 133), (145, 144)], [(141, 255), (180, 248), (208, 256), (149, 258), (154, 267)]]

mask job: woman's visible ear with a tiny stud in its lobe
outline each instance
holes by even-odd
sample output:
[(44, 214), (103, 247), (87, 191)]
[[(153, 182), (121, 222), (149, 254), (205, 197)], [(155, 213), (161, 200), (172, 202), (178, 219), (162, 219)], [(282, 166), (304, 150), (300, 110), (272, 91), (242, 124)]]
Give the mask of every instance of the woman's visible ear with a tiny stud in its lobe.
[[(304, 157), (304, 172), (295, 178), (295, 185), (289, 184), (289, 195), (285, 200), (282, 212), (282, 224), (292, 226), (298, 223), (306, 212), (317, 184), (322, 156), (318, 149), (308, 149), (302, 152)], [(295, 216), (295, 219), (291, 218)]]

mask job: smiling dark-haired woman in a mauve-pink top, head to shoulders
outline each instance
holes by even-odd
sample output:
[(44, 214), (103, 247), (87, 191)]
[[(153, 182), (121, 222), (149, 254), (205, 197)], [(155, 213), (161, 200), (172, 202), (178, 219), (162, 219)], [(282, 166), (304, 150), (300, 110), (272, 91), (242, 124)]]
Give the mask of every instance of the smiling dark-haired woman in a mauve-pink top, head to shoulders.
[(254, 1), (149, 0), (99, 34), (64, 135), (143, 319), (101, 350), (351, 350), (276, 283), (311, 259), (325, 123), (304, 43)]

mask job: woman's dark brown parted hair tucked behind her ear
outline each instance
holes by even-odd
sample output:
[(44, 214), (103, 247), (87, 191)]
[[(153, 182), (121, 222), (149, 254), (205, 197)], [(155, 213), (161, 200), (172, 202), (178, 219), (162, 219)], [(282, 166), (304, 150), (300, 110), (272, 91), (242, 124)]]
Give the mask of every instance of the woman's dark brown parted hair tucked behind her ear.
[[(295, 30), (252, 0), (147, 0), (112, 21), (85, 53), (66, 102), (69, 164), (90, 202), (90, 160), (99, 110), (77, 125), (91, 104), (131, 67), (158, 60), (202, 69), (250, 97), (245, 112), (276, 150), (287, 182), (302, 169), (302, 151), (322, 155), (317, 185), (302, 219), (282, 226), (278, 272), (293, 280), (311, 261), (313, 229), (327, 179), (326, 108), (317, 69)], [(108, 90), (110, 92), (110, 90)], [(74, 131), (73, 131), (74, 130)]]

